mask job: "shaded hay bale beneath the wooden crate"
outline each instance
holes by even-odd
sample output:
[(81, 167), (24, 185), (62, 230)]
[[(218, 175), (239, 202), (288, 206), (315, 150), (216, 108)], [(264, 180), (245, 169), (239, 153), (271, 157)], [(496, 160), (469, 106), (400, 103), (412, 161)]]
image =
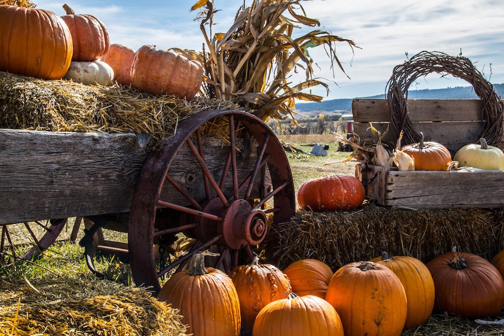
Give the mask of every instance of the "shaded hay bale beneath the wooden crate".
[(414, 211), (368, 204), (349, 212), (301, 211), (272, 230), (280, 237), (280, 267), (316, 258), (333, 270), (382, 251), (427, 262), (454, 245), (491, 258), (503, 241), (502, 210), (489, 209)]

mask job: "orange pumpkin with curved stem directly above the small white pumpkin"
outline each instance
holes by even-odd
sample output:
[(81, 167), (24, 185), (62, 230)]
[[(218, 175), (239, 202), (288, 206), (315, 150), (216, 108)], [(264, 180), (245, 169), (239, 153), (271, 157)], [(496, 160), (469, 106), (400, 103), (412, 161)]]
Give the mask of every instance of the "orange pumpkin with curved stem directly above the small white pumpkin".
[(92, 61), (106, 54), (110, 39), (105, 25), (92, 15), (75, 14), (67, 4), (63, 8), (67, 15), (61, 19), (67, 23), (74, 40), (72, 60)]

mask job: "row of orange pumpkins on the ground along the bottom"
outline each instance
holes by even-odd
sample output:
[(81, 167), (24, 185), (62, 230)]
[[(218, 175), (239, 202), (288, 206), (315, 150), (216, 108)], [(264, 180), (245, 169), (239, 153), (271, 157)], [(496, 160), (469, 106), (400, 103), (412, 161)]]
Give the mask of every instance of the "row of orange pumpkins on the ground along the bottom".
[(433, 309), (475, 318), (504, 306), (504, 251), (492, 260), (499, 268), (454, 249), (426, 265), (384, 252), (334, 274), (315, 259), (282, 273), (255, 258), (229, 277), (205, 268), (205, 255), (195, 254), (159, 293), (199, 336), (394, 336), (424, 323)]

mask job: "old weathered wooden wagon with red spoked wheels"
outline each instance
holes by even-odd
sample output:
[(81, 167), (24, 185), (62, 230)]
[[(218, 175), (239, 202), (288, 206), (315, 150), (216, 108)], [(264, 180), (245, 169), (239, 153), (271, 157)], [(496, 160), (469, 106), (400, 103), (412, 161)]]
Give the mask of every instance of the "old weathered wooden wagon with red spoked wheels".
[[(202, 126), (216, 119), (227, 120), (227, 139), (202, 136)], [(157, 145), (134, 133), (0, 130), (3, 257), (16, 256), (10, 224), (24, 223), (30, 233), (33, 248), (16, 256), (26, 259), (54, 242), (62, 219), (82, 216), (93, 224), (81, 240), (90, 269), (102, 276), (93, 266), (93, 235), (101, 228), (127, 232), (128, 243), (98, 247), (127, 253), (135, 283), (157, 293), (158, 279), (180, 271), (197, 251), (214, 246), (220, 256), (213, 266), (225, 271), (251, 259), (268, 222), (294, 212), (283, 147), (264, 122), (242, 111), (195, 113)], [(158, 250), (169, 251), (180, 232), (195, 239), (190, 251), (159, 260)]]

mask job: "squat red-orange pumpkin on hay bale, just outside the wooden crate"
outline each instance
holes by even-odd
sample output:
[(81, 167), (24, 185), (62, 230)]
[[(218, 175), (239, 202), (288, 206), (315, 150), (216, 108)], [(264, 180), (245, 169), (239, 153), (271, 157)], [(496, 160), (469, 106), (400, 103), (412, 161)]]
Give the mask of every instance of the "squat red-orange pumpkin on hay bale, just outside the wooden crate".
[(357, 178), (334, 175), (304, 182), (297, 192), (297, 202), (304, 210), (351, 210), (362, 204), (364, 196), (364, 186)]

